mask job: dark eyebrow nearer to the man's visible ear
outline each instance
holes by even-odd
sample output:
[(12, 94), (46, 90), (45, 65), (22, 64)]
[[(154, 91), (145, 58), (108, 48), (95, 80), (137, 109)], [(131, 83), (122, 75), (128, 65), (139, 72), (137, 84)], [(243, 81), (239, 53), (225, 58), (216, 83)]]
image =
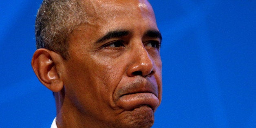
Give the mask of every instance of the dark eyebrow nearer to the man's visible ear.
[(96, 43), (104, 42), (111, 38), (123, 37), (129, 34), (130, 32), (126, 30), (110, 31), (106, 35), (104, 35), (102, 38), (99, 38), (99, 40), (97, 40)]

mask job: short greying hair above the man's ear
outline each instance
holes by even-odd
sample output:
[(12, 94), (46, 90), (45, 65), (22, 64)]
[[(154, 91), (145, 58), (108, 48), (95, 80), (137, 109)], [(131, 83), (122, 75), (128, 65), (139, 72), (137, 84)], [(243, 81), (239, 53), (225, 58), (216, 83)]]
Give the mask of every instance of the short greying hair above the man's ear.
[(68, 35), (86, 22), (81, 0), (44, 0), (35, 20), (36, 48), (49, 49), (64, 59), (69, 57)]

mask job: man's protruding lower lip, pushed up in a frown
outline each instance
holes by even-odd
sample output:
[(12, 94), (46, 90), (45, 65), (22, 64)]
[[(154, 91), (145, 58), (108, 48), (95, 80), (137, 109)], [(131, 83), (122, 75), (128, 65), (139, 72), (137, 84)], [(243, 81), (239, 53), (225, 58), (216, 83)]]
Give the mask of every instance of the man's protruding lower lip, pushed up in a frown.
[(154, 111), (159, 105), (159, 99), (152, 93), (135, 93), (121, 96), (117, 105), (125, 110), (133, 110), (147, 105)]

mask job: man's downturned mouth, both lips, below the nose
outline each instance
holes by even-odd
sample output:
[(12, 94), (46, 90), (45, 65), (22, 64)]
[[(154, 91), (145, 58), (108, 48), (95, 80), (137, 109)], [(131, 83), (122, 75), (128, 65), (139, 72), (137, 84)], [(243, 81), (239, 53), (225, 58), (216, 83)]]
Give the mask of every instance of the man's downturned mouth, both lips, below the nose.
[(146, 106), (154, 112), (159, 106), (157, 85), (150, 82), (143, 83), (133, 83), (119, 88), (117, 106), (124, 110)]

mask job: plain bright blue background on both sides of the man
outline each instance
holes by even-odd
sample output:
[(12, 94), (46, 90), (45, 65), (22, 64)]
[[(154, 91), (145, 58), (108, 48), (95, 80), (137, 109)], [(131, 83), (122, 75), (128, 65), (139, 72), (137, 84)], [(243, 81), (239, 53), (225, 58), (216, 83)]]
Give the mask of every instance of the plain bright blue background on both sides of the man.
[[(150, 0), (163, 35), (154, 128), (256, 128), (256, 0)], [(41, 0), (0, 4), (0, 127), (49, 128), (52, 92), (33, 73)]]

